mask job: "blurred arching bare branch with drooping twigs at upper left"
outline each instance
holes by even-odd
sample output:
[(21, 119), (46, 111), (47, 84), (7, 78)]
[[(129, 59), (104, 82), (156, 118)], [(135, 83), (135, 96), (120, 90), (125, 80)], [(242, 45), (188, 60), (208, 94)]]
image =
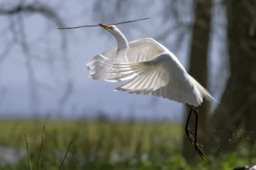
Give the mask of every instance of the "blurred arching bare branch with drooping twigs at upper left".
[[(33, 63), (37, 57), (32, 57), (31, 50), (28, 47), (29, 42), (26, 41), (26, 29), (25, 25), (21, 23), (23, 21), (23, 18), (21, 15), (24, 14), (35, 14), (38, 13), (42, 16), (45, 16), (45, 18), (49, 19), (50, 21), (53, 21), (57, 27), (63, 27), (64, 23), (63, 21), (59, 18), (58, 14), (53, 10), (51, 7), (47, 7), (44, 4), (41, 4), (40, 2), (34, 2), (29, 5), (24, 5), (22, 3), (17, 4), (16, 7), (0, 7), (0, 16), (18, 16), (20, 17), (21, 20), (17, 21), (18, 24), (18, 29), (16, 29), (16, 25), (12, 22), (12, 34), (13, 37), (17, 40), (17, 43), (21, 45), (21, 48), (23, 49), (23, 53), (26, 57), (26, 68), (29, 76), (29, 82), (30, 82), (30, 89), (31, 89), (31, 107), (33, 108), (33, 111), (36, 112), (37, 108), (37, 94), (36, 94), (36, 88), (38, 82), (36, 82), (36, 75), (34, 74), (34, 69), (33, 69)], [(26, 18), (24, 18), (25, 20)], [(67, 36), (64, 31), (59, 31), (59, 34), (61, 36), (61, 41), (60, 41), (60, 47), (62, 48), (62, 62), (63, 62), (63, 67), (64, 67), (64, 75), (66, 76), (65, 79), (65, 88), (64, 88), (64, 94), (63, 96), (60, 97), (59, 99), (59, 106), (58, 108), (62, 108), (64, 106), (64, 103), (69, 99), (69, 95), (72, 94), (73, 91), (73, 82), (72, 82), (72, 76), (70, 75), (70, 64), (69, 64), (69, 55), (68, 55), (68, 40)], [(19, 38), (20, 39), (19, 39)], [(45, 37), (45, 36), (43, 36)], [(0, 62), (7, 57), (7, 53), (12, 49), (12, 42), (10, 42), (10, 45), (5, 48), (3, 51), (2, 55), (0, 54)], [(40, 58), (37, 58), (40, 59)], [(50, 63), (51, 64), (51, 63)], [(60, 109), (59, 109), (60, 110)]]

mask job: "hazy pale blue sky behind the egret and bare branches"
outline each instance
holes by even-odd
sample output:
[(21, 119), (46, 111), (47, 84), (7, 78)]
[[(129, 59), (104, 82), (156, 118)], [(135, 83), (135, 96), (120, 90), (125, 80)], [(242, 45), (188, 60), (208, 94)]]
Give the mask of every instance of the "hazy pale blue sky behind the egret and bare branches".
[[(27, 3), (30, 2), (27, 1)], [(111, 8), (112, 4), (109, 5), (109, 8), (104, 8), (104, 11), (97, 11), (97, 8), (95, 9), (92, 6), (92, 0), (86, 2), (77, 0), (64, 3), (60, 1), (40, 2), (56, 9), (55, 12), (64, 20), (64, 25), (66, 26), (92, 25), (100, 22), (110, 23), (112, 22), (111, 19), (115, 21), (124, 21), (126, 19), (128, 21), (150, 16), (151, 18), (147, 21), (118, 26), (126, 35), (128, 41), (145, 37), (157, 39), (161, 31), (164, 30), (164, 21), (161, 20), (161, 15), (159, 15), (163, 1), (162, 3), (154, 2), (155, 4), (151, 4), (149, 7), (142, 6), (142, 4), (145, 4), (143, 3), (144, 1), (133, 1), (132, 6), (130, 6), (130, 13), (128, 11), (129, 15), (122, 16), (121, 11), (116, 11), (115, 18), (108, 17), (108, 14), (113, 10)], [(9, 3), (11, 7), (17, 2), (12, 1)], [(102, 3), (106, 3), (106, 1)], [(218, 11), (214, 12), (217, 13)], [(96, 16), (97, 13), (98, 16)], [(113, 89), (121, 85), (121, 83), (107, 83), (92, 80), (88, 77), (86, 62), (96, 56), (97, 53), (102, 53), (108, 48), (116, 46), (116, 39), (107, 31), (102, 30), (100, 27), (80, 30), (57, 30), (57, 25), (44, 16), (26, 14), (22, 18), (29, 55), (26, 55), (18, 45), (14, 45), (11, 52), (7, 54), (6, 59), (0, 62), (0, 95), (2, 96), (0, 100), (0, 116), (35, 116), (32, 109), (34, 107), (36, 108), (37, 116), (94, 117), (103, 112), (112, 118), (127, 118), (131, 116), (142, 120), (181, 120), (183, 118), (184, 105), (182, 103), (152, 95), (114, 92)], [(0, 29), (5, 30), (5, 28), (8, 28), (8, 24), (17, 23), (17, 20), (19, 20), (17, 17), (0, 16), (0, 22), (5, 23), (0, 26)], [(215, 20), (220, 21), (221, 18)], [(13, 25), (13, 30), (20, 29), (19, 24)], [(61, 48), (63, 39), (61, 39), (60, 31), (64, 31), (64, 34), (68, 37), (67, 51)], [(158, 40), (166, 47), (172, 48), (175, 47), (171, 45), (173, 42), (175, 44), (174, 37), (175, 34), (162, 41), (161, 39)], [(187, 40), (185, 39), (182, 47), (170, 49), (177, 55), (185, 68), (187, 68), (189, 37), (188, 34)], [(0, 53), (3, 52), (8, 42), (14, 38), (23, 39), (22, 37), (12, 36), (8, 31), (7, 34), (2, 34)], [(221, 69), (223, 67), (224, 57), (223, 55), (221, 56), (221, 53), (223, 54), (221, 51), (223, 44), (220, 44), (218, 36), (212, 36), (211, 44), (209, 65), (211, 68), (210, 77), (213, 77), (218, 74), (219, 69), (216, 68)], [(31, 82), (28, 79), (26, 67), (27, 56), (32, 57), (31, 66), (36, 76), (36, 100), (31, 99)], [(65, 71), (64, 66), (69, 67), (69, 71)], [(222, 79), (225, 79), (225, 77), (226, 75), (223, 74)], [(59, 101), (64, 94), (67, 80), (73, 83), (73, 90), (67, 102), (61, 105), (59, 110)], [(212, 82), (212, 79), (210, 82)], [(219, 84), (216, 85), (215, 83), (212, 82), (214, 85), (211, 85), (210, 91), (214, 91), (213, 96), (218, 98), (221, 94), (221, 88), (218, 88)], [(214, 90), (215, 86), (220, 90)]]

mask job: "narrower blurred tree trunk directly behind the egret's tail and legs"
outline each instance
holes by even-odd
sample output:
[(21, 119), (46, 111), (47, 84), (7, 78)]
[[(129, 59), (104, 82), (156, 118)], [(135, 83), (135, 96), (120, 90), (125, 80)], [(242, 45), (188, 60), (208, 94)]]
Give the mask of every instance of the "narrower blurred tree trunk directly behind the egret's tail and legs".
[[(190, 69), (189, 73), (193, 76), (202, 86), (207, 87), (207, 56), (208, 56), (208, 44), (210, 42), (211, 34), (211, 8), (212, 1), (195, 1), (195, 22), (192, 31), (192, 48), (190, 56)], [(197, 129), (197, 141), (199, 144), (204, 145), (206, 129), (207, 129), (207, 118), (209, 113), (209, 103), (202, 103), (197, 108), (199, 111), (199, 122)], [(184, 123), (187, 122), (186, 109)], [(192, 115), (190, 122), (190, 129), (194, 129), (195, 115)], [(188, 140), (186, 134), (183, 136), (183, 155), (187, 161), (191, 162), (197, 158), (197, 152), (193, 145)]]

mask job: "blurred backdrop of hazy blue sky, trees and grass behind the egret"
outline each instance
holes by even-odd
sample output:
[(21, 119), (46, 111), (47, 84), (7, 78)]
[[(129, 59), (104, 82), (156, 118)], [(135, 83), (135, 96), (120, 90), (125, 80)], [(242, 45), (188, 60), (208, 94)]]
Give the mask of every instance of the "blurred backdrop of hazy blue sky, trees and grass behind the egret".
[[(118, 28), (128, 41), (164, 44), (220, 102), (198, 108), (205, 161), (185, 136), (184, 104), (114, 92), (119, 83), (88, 78), (86, 62), (116, 46), (111, 34), (58, 30), (148, 16)], [(256, 163), (255, 16), (253, 0), (2, 0), (0, 169), (30, 169), (27, 155), (34, 169), (59, 169), (71, 140), (62, 169)]]

